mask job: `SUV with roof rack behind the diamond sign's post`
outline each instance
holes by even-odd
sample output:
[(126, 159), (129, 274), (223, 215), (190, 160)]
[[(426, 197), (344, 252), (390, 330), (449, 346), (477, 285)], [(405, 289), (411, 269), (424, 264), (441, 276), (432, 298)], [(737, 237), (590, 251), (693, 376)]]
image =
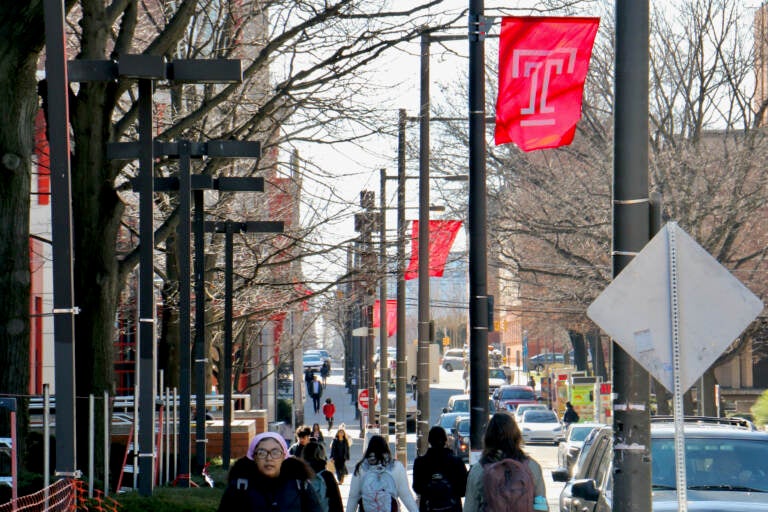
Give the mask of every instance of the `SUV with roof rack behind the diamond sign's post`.
[[(686, 420), (685, 469), (688, 509), (706, 512), (768, 511), (768, 432), (726, 418)], [(651, 486), (654, 512), (678, 510), (674, 425), (651, 424)], [(567, 482), (559, 510), (608, 512), (613, 498), (613, 428), (587, 436), (569, 480), (558, 468), (552, 478)]]

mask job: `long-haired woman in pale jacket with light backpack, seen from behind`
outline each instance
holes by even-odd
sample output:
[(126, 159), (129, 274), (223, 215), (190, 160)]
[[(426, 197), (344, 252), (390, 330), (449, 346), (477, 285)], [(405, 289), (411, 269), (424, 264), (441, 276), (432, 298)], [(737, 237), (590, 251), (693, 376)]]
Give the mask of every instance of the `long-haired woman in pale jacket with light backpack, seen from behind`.
[(408, 487), (405, 467), (392, 458), (389, 444), (380, 435), (368, 440), (363, 458), (352, 472), (349, 487), (347, 512), (397, 512), (398, 499), (408, 512), (419, 510)]

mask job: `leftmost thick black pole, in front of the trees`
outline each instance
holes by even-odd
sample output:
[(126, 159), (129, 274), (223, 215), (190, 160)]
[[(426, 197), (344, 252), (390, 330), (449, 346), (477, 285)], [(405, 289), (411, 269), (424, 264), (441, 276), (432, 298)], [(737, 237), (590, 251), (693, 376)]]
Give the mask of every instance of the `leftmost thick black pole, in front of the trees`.
[(75, 307), (72, 270), (72, 190), (69, 168), (69, 84), (64, 2), (45, 0), (53, 241), (53, 330), (56, 366), (56, 476), (77, 478), (75, 437)]

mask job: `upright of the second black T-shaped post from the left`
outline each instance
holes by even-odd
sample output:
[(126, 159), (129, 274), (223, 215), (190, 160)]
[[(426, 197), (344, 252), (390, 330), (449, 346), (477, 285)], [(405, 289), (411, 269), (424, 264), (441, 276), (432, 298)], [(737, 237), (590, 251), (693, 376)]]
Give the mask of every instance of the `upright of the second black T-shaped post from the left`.
[[(189, 475), (190, 457), (189, 457), (189, 427), (190, 427), (190, 395), (192, 394), (192, 375), (191, 375), (191, 338), (192, 329), (190, 325), (190, 280), (192, 273), (189, 263), (189, 246), (191, 239), (191, 156), (189, 141), (179, 141), (179, 225), (176, 228), (179, 254), (179, 394), (181, 399), (180, 424), (179, 424), (179, 442), (181, 443), (181, 453), (179, 453), (179, 472), (182, 475)], [(170, 416), (170, 415), (169, 415)], [(174, 473), (178, 477), (178, 473)], [(179, 487), (189, 487), (189, 478), (178, 478)]]

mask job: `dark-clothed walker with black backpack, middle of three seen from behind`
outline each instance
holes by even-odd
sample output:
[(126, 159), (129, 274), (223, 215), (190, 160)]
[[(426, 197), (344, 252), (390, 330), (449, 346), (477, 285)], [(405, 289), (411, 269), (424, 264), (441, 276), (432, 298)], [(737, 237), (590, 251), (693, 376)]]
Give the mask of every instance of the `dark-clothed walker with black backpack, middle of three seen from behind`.
[(434, 426), (427, 437), (429, 449), (413, 461), (413, 491), (419, 495), (421, 512), (461, 512), (467, 487), (464, 461), (445, 447), (448, 436)]

